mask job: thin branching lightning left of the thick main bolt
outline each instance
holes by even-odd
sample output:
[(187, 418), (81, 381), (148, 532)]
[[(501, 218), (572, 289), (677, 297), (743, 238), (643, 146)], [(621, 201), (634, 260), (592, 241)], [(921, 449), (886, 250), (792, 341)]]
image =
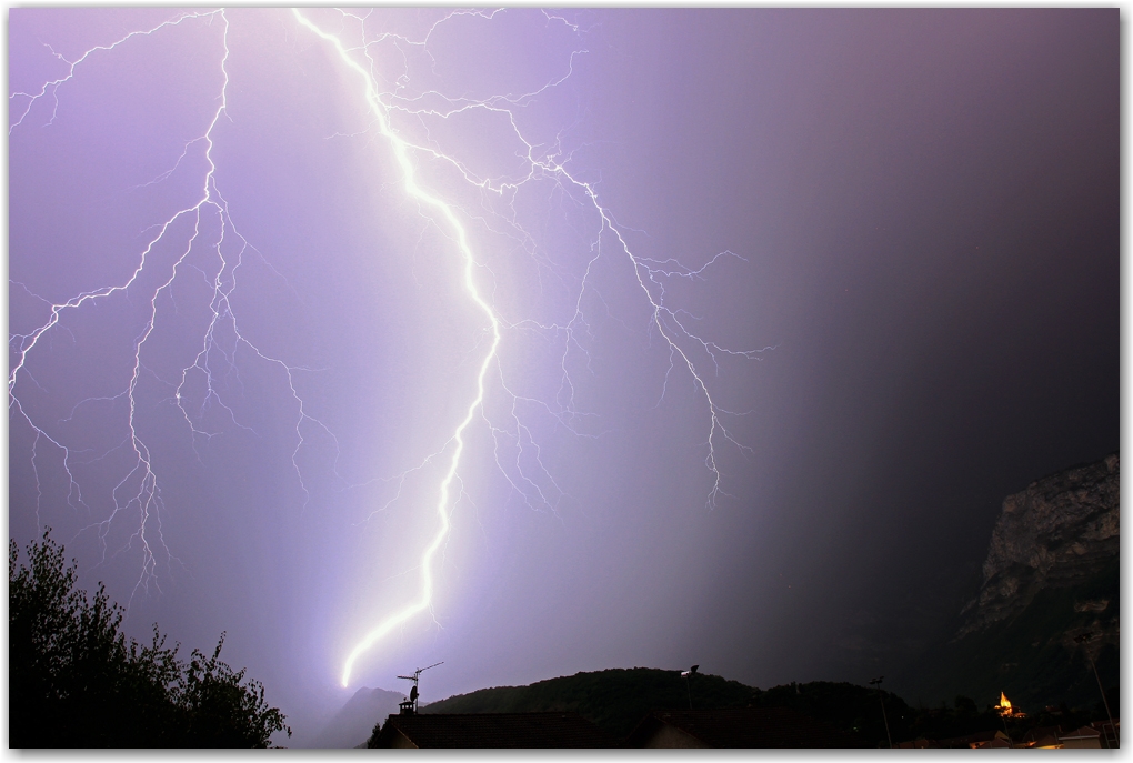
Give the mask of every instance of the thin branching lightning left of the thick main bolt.
[[(186, 271), (190, 271), (194, 275), (203, 275), (211, 290), (211, 298), (207, 305), (211, 318), (205, 332), (201, 336), (201, 350), (194, 358), (193, 363), (181, 369), (179, 378), (160, 379), (169, 388), (171, 402), (173, 402), (184, 415), (186, 426), (193, 437), (194, 449), (197, 447), (198, 438), (208, 439), (213, 436), (213, 432), (202, 429), (198, 426), (198, 422), (204, 420), (210, 408), (220, 409), (229, 415), (232, 423), (237, 427), (244, 427), (244, 425), (236, 420), (231, 408), (223, 402), (214, 387), (215, 377), (223, 372), (223, 370), (235, 372), (236, 353), (241, 349), (250, 351), (258, 360), (276, 367), (286, 378), (296, 401), (299, 412), (295, 428), (296, 446), (292, 453), (292, 464), (295, 465), (299, 486), (305, 492), (306, 486), (303, 485), (303, 474), (296, 463), (296, 456), (304, 445), (303, 427), (304, 425), (323, 427), (322, 422), (307, 414), (304, 401), (296, 391), (293, 375), (307, 369), (290, 365), (280, 358), (274, 358), (261, 351), (255, 343), (248, 341), (240, 331), (237, 315), (232, 307), (231, 298), (237, 288), (237, 273), (244, 263), (245, 255), (252, 247), (237, 231), (229, 215), (228, 203), (216, 185), (218, 169), (213, 158), (213, 134), (228, 108), (229, 19), (223, 10), (182, 14), (147, 31), (131, 32), (112, 44), (92, 48), (73, 62), (66, 61), (61, 55), (56, 54), (57, 58), (68, 65), (68, 72), (65, 77), (45, 83), (37, 93), (15, 93), (9, 98), (10, 102), (26, 101), (24, 109), (19, 112), (19, 117), (12, 123), (9, 132), (23, 126), (36, 102), (49, 95), (52, 98), (53, 108), (51, 118), (46, 121), (45, 127), (50, 126), (58, 114), (59, 89), (75, 79), (80, 65), (97, 54), (108, 54), (121, 45), (128, 44), (135, 37), (161, 34), (179, 25), (194, 22), (205, 24), (216, 23), (220, 28), (222, 55), (216, 62), (216, 72), (220, 77), (216, 109), (208, 118), (204, 131), (185, 145), (181, 156), (177, 160), (177, 164), (152, 182), (160, 182), (171, 175), (180, 166), (181, 161), (188, 152), (199, 144), (204, 147), (203, 154), (207, 168), (201, 185), (199, 197), (194, 204), (178, 209), (169, 218), (155, 226), (156, 235), (151, 238), (142, 249), (138, 255), (137, 266), (120, 284), (86, 291), (62, 302), (51, 302), (50, 300), (37, 298), (49, 306), (48, 319), (27, 333), (11, 334), (8, 340), (9, 350), (12, 353), (11, 370), (8, 375), (9, 410), (11, 414), (18, 417), (32, 428), (36, 447), (42, 439), (62, 453), (62, 468), (71, 486), (68, 500), (73, 501), (71, 506), (74, 508), (84, 508), (87, 513), (91, 513), (91, 507), (83, 499), (80, 486), (71, 471), (75, 454), (70, 447), (49, 434), (46, 425), (39, 423), (24, 410), (20, 397), (17, 394), (17, 386), (23, 377), (28, 376), (26, 363), (32, 353), (45, 335), (60, 327), (60, 322), (65, 315), (77, 314), (84, 309), (91, 309), (114, 299), (133, 301), (138, 295), (148, 305), (147, 316), (133, 342), (133, 363), (129, 368), (125, 389), (111, 398), (126, 401), (125, 440), (121, 447), (129, 448), (133, 453), (133, 463), (111, 491), (112, 508), (109, 514), (86, 528), (86, 530), (93, 530), (97, 533), (102, 547), (102, 558), (105, 561), (108, 552), (111, 552), (111, 549), (107, 545), (111, 526), (119, 520), (119, 515), (133, 513), (137, 516), (136, 530), (129, 537), (126, 546), (112, 549), (113, 554), (118, 554), (125, 550), (125, 548), (131, 548), (136, 545), (140, 551), (142, 565), (137, 582), (131, 592), (131, 600), (138, 591), (148, 591), (150, 585), (156, 586), (160, 591), (156, 574), (159, 551), (164, 556), (167, 561), (177, 561), (177, 557), (169, 550), (161, 531), (163, 501), (157, 473), (154, 470), (151, 457), (151, 448), (146, 444), (145, 438), (139, 434), (137, 427), (137, 391), (143, 376), (147, 372), (143, 357), (157, 324), (160, 312), (159, 301), (163, 295), (168, 297), (170, 294), (170, 289), (176, 280), (185, 277), (182, 274)], [(210, 223), (216, 228), (211, 233), (211, 238), (202, 230), (203, 226)], [(191, 226), (188, 231), (180, 230), (188, 226)], [(180, 243), (178, 243), (178, 235), (181, 237)], [(235, 241), (235, 243), (230, 243), (230, 241)], [(173, 259), (171, 267), (163, 262), (155, 263), (155, 250), (170, 246), (179, 247), (180, 251), (176, 259)], [(190, 265), (190, 256), (196, 254), (195, 249), (198, 248), (208, 252), (208, 256), (204, 258), (203, 266)], [(168, 268), (165, 276), (160, 275), (163, 267)], [(211, 269), (205, 269), (206, 267)], [(154, 275), (151, 275), (152, 273)], [(151, 282), (154, 276), (157, 278), (156, 283)], [(223, 338), (222, 335), (224, 335)], [(195, 410), (190, 410), (185, 393), (194, 379), (203, 382), (204, 395), (194, 406)], [(108, 398), (91, 397), (83, 400), (73, 409), (71, 413), (74, 415), (76, 409), (104, 400)], [(96, 456), (96, 460), (103, 458), (107, 455), (109, 454), (100, 454)], [(32, 464), (35, 470), (36, 494), (39, 495), (40, 486), (36, 456), (37, 451), (33, 452)], [(39, 506), (36, 506), (36, 512), (39, 512)]]

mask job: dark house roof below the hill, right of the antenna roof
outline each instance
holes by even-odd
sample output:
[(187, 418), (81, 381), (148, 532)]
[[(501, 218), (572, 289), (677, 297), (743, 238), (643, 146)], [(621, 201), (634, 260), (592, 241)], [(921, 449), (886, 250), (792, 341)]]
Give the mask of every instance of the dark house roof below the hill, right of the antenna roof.
[(625, 740), (641, 747), (662, 727), (671, 726), (709, 747), (866, 747), (863, 739), (838, 731), (789, 708), (729, 710), (655, 710)]

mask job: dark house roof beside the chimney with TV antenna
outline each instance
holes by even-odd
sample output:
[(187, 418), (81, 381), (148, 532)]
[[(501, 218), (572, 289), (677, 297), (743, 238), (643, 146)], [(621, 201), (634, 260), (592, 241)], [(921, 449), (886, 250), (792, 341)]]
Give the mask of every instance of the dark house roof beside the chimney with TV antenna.
[(390, 715), (377, 737), (400, 731), (418, 747), (615, 747), (616, 740), (577, 713), (426, 713)]

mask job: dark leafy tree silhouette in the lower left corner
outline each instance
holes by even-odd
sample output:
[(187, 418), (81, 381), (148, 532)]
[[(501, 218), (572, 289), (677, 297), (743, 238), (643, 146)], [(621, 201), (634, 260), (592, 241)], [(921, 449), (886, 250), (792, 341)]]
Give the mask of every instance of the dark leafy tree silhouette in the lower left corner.
[(120, 631), (122, 609), (100, 584), (76, 590), (75, 566), (43, 533), (19, 564), (8, 543), (9, 739), (11, 747), (266, 747), (291, 730), (264, 688), (220, 660), (153, 628), (140, 645)]

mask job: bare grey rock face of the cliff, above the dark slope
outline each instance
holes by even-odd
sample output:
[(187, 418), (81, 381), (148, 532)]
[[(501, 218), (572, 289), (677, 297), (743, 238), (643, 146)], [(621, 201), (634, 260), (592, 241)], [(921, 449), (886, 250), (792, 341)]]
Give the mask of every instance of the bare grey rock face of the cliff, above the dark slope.
[[(1012, 618), (1045, 588), (1071, 588), (1119, 552), (1118, 454), (1032, 482), (1007, 496), (983, 561), (983, 585), (956, 637)], [(1082, 601), (1077, 611), (1108, 602)]]

